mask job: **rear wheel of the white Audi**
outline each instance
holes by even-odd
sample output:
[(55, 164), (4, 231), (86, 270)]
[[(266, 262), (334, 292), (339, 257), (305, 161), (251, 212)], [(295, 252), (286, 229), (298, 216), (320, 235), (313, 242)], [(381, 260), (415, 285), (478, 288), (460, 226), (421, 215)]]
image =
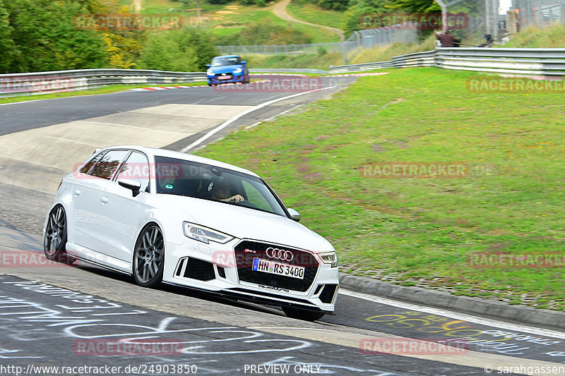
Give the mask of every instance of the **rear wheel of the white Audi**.
[(43, 252), (49, 260), (66, 261), (66, 214), (61, 205), (49, 212), (43, 238)]

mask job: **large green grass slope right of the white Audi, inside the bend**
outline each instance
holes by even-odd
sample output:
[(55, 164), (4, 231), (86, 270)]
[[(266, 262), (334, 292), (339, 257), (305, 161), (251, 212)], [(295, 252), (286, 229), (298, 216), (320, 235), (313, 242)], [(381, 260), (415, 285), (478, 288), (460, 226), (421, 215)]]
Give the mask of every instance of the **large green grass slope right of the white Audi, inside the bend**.
[[(565, 308), (562, 267), (470, 265), (564, 256), (560, 92), (473, 94), (470, 75), (391, 70), (198, 154), (261, 174), (338, 250), (343, 271), (536, 308)], [(369, 178), (374, 162), (468, 164), (465, 178)]]

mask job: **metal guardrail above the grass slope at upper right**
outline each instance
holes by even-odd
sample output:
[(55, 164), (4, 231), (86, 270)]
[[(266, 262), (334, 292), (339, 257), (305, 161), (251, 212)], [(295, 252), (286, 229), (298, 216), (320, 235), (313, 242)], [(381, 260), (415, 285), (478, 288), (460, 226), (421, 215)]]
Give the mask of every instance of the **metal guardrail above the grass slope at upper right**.
[(502, 75), (565, 76), (565, 49), (449, 47), (394, 56), (391, 61), (335, 66), (329, 71), (330, 73), (341, 73), (413, 66), (437, 66), (445, 69)]

